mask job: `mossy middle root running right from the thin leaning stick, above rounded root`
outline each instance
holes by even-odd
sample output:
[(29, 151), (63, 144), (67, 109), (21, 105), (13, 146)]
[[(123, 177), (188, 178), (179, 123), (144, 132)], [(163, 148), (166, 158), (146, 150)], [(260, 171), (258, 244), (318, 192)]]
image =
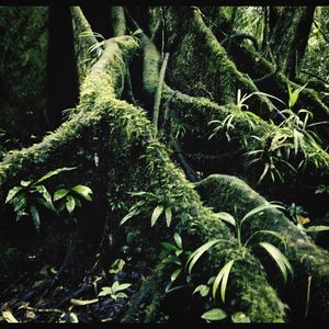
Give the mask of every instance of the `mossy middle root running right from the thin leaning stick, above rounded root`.
[[(264, 162), (246, 167), (247, 160), (252, 159), (252, 157), (247, 158), (246, 154), (252, 150), (265, 149), (270, 134), (274, 131), (275, 134), (283, 133), (283, 131), (260, 117), (248, 116), (234, 105), (219, 106), (205, 98), (189, 97), (180, 92), (173, 93), (173, 90), (166, 87), (162, 95), (161, 113), (164, 113), (166, 107), (169, 106), (170, 116), (172, 117), (166, 131), (168, 132), (167, 138), (169, 140), (172, 138), (170, 136), (172, 136), (171, 134), (178, 125), (184, 125), (184, 136), (180, 137), (182, 147), (188, 159), (195, 163), (198, 171), (205, 172), (205, 174), (226, 172), (242, 177), (253, 188), (261, 189), (275, 200), (294, 197), (296, 191), (304, 191), (306, 194), (314, 195), (313, 186), (320, 184), (328, 178), (328, 154), (319, 145), (311, 144), (305, 138), (303, 150), (299, 149), (297, 155), (292, 150), (290, 158), (284, 158), (295, 168), (298, 167), (302, 160), (305, 160), (304, 166), (297, 172), (294, 172), (285, 163), (279, 163), (284, 182), (277, 180), (273, 183), (268, 177), (259, 184), (258, 180), (262, 174)], [(231, 121), (234, 128), (228, 132), (226, 129), (218, 131), (209, 139), (216, 126), (220, 125), (231, 114), (234, 114)], [(209, 124), (212, 121), (217, 121), (217, 123)], [(229, 135), (230, 140), (228, 140), (226, 133)], [(258, 140), (253, 136), (260, 139)], [(291, 137), (287, 141), (293, 145)], [(307, 158), (305, 155), (307, 155)], [(280, 194), (282, 189), (285, 191), (284, 195)], [(291, 200), (291, 202), (296, 201)]]

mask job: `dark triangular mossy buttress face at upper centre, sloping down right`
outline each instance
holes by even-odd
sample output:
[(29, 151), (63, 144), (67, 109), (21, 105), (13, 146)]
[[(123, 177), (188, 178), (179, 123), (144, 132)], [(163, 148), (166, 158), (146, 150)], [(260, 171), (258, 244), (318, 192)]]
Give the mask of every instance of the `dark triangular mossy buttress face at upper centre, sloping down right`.
[[(235, 103), (238, 89), (242, 93), (257, 91), (256, 86), (237, 70), (200, 14), (193, 11), (189, 21), (171, 56), (169, 82), (186, 94), (207, 97), (218, 104)], [(272, 109), (262, 97), (254, 97), (251, 103), (256, 113), (265, 116)]]

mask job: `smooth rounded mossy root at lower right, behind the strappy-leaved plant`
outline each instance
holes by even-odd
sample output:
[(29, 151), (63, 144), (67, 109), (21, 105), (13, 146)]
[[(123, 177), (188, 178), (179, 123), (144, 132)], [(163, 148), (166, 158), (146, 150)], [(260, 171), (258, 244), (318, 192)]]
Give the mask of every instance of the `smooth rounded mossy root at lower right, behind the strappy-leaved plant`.
[[(211, 206), (215, 212), (228, 212), (236, 218), (241, 218), (249, 211), (265, 203), (265, 200), (242, 180), (231, 175), (212, 174), (195, 186), (205, 205)], [(237, 200), (239, 200), (238, 203)], [(303, 318), (307, 299), (307, 282), (311, 276), (311, 302), (308, 316), (327, 318), (329, 303), (326, 287), (329, 286), (329, 253), (316, 247), (304, 231), (277, 209), (266, 209), (263, 214), (254, 216), (243, 228), (245, 239), (260, 229), (283, 234), (288, 245), (285, 254), (296, 273), (293, 283), (287, 285), (284, 293), (288, 305)]]

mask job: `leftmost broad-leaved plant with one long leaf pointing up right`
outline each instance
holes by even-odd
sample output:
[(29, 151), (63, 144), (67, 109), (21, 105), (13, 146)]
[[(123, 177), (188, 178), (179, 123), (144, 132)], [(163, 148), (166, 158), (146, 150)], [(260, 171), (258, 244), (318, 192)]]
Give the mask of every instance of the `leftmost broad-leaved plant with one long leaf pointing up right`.
[(56, 208), (54, 207), (52, 196), (48, 190), (42, 184), (44, 181), (49, 178), (59, 174), (63, 171), (70, 171), (75, 168), (58, 168), (56, 170), (49, 171), (44, 174), (42, 178), (36, 181), (24, 181), (22, 180), (20, 185), (12, 188), (7, 195), (5, 202), (11, 204), (16, 213), (16, 220), (19, 220), (22, 216), (29, 215), (32, 216), (34, 222), (34, 226), (36, 230), (39, 230), (39, 213), (37, 209), (37, 204), (41, 204), (54, 212)]

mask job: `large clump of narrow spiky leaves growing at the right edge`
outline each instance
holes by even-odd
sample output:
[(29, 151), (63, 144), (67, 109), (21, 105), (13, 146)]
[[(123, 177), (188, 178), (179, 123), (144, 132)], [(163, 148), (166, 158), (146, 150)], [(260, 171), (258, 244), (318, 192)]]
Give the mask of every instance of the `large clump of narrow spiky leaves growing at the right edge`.
[[(320, 147), (321, 139), (311, 131), (313, 126), (328, 124), (328, 122), (309, 124), (308, 121), (313, 117), (310, 111), (304, 109), (298, 110), (297, 113), (292, 111), (305, 87), (306, 84), (292, 90), (291, 86), (287, 84), (288, 109), (281, 111), (286, 118), (277, 126), (272, 123), (271, 132), (263, 137), (251, 136), (259, 141), (261, 147), (245, 154), (247, 158), (251, 157), (251, 160), (246, 162), (246, 167), (254, 163), (263, 166), (258, 183), (261, 183), (266, 175), (271, 177), (273, 183), (276, 179), (283, 183), (284, 168), (296, 173), (302, 166), (306, 168), (308, 161), (311, 161), (316, 168), (320, 167), (319, 160), (325, 163), (328, 162), (326, 157), (321, 157), (321, 154), (325, 152)], [(309, 151), (310, 148), (314, 149), (313, 152)], [(295, 159), (297, 155), (302, 156), (302, 160), (295, 166), (292, 164), (291, 160), (292, 150)]]

